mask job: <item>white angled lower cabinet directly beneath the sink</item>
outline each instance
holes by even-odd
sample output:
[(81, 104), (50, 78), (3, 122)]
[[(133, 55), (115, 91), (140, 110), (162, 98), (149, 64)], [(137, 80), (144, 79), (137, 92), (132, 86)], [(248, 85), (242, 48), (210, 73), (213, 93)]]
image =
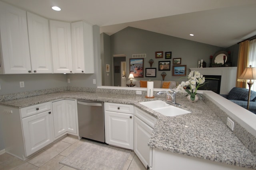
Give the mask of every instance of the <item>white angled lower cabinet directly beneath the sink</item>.
[(152, 148), (148, 146), (156, 118), (134, 107), (134, 152), (146, 168), (152, 167)]

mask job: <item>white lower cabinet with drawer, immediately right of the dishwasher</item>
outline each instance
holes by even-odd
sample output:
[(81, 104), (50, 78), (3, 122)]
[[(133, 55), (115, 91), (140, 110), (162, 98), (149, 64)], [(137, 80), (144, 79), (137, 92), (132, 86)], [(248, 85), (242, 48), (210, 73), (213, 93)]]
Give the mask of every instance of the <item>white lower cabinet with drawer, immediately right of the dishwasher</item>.
[(112, 103), (105, 103), (104, 106), (106, 143), (133, 150), (134, 107)]

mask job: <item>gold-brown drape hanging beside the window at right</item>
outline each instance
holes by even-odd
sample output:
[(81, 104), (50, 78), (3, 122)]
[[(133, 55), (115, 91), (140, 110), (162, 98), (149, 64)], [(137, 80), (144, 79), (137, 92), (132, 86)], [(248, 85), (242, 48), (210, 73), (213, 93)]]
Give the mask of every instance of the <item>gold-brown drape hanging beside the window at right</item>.
[[(242, 72), (244, 71), (244, 68), (248, 67), (247, 65), (248, 65), (249, 44), (250, 44), (249, 40), (243, 41), (239, 44), (236, 80), (242, 74)], [(236, 87), (246, 88), (246, 82), (236, 81)]]

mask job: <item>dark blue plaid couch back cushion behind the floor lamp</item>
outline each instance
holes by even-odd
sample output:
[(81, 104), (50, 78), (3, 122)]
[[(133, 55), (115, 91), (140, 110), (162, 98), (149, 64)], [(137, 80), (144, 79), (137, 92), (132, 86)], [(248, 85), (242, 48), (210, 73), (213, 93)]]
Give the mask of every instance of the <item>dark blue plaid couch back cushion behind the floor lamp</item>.
[[(246, 88), (238, 88), (234, 87), (230, 90), (228, 93), (228, 100), (248, 100), (248, 89)], [(254, 100), (256, 97), (256, 92), (251, 90), (251, 96), (250, 96), (250, 101)]]

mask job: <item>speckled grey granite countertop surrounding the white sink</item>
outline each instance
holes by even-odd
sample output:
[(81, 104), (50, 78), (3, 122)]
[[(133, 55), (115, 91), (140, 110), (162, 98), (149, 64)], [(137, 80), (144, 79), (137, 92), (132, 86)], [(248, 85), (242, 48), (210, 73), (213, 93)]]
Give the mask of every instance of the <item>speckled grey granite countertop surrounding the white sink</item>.
[(64, 98), (132, 104), (157, 118), (148, 143), (150, 147), (256, 169), (256, 156), (242, 144), (202, 100), (190, 103), (182, 94), (177, 95), (177, 102), (182, 104), (180, 108), (192, 113), (174, 117), (164, 116), (138, 103), (164, 100), (164, 96), (147, 99), (141, 95), (65, 91), (10, 100), (0, 102), (0, 104), (22, 108)]

